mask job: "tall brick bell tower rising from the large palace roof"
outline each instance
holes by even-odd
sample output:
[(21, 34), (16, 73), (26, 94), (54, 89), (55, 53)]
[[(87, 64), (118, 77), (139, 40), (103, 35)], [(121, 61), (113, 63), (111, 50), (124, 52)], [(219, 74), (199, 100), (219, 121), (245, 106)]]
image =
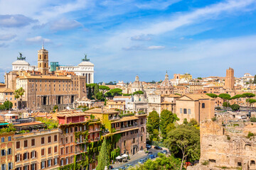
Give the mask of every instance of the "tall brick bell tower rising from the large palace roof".
[(38, 50), (38, 72), (43, 75), (48, 75), (49, 72), (48, 50), (42, 46), (41, 50)]

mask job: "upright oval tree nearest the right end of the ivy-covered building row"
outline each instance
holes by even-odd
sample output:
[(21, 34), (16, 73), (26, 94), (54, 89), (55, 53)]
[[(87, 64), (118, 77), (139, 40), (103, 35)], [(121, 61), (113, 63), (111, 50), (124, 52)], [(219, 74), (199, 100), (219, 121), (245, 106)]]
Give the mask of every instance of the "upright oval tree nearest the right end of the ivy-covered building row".
[(157, 113), (156, 111), (150, 112), (146, 122), (146, 130), (147, 132), (149, 132), (150, 140), (159, 139), (159, 125), (160, 125), (159, 113)]

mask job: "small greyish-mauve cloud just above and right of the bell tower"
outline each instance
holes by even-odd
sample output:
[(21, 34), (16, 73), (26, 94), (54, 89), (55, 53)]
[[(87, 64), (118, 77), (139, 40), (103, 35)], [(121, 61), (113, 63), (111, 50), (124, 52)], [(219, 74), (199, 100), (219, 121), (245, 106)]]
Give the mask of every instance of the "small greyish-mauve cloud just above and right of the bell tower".
[(78, 21), (62, 18), (58, 21), (51, 23), (50, 29), (51, 30), (70, 30), (70, 29), (81, 27), (81, 26), (82, 26), (82, 23), (79, 23)]

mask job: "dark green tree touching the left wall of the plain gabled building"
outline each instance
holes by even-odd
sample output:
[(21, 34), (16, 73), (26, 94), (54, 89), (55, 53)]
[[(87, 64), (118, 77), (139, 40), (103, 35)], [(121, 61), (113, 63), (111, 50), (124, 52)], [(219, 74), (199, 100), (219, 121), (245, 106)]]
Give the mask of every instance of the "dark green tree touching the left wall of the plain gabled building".
[(161, 111), (160, 114), (160, 130), (161, 130), (161, 137), (163, 139), (166, 138), (167, 132), (167, 127), (169, 124), (173, 124), (176, 120), (179, 120), (177, 115), (175, 113), (172, 113), (171, 111), (168, 110), (163, 110)]

